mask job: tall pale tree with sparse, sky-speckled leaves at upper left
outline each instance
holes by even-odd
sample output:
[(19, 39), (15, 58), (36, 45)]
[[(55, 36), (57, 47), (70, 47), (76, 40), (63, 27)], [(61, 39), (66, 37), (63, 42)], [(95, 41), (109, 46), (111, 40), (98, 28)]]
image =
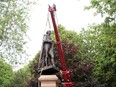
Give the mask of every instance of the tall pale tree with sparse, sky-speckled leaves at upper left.
[(11, 64), (24, 53), (29, 6), (29, 0), (0, 0), (0, 58)]

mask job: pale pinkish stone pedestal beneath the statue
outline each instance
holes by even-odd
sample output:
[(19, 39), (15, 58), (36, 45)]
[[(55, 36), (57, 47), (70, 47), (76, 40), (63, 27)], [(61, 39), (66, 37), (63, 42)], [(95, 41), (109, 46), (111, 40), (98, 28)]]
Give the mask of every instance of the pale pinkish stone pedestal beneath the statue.
[(40, 87), (58, 87), (58, 77), (56, 75), (41, 75), (39, 78)]

